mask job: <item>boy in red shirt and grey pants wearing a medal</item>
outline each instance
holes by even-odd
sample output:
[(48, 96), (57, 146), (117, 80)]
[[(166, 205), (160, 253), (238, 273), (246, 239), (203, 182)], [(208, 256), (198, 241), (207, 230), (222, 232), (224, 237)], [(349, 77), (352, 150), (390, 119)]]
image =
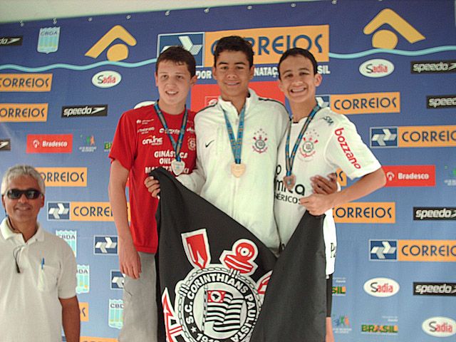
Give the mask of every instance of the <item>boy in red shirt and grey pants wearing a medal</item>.
[[(119, 342), (157, 341), (155, 252), (157, 198), (144, 180), (156, 167), (175, 175), (195, 167), (195, 113), (185, 108), (187, 95), (197, 81), (195, 58), (172, 46), (157, 58), (155, 105), (123, 113), (115, 131), (110, 155), (109, 198), (119, 236), (120, 271), (125, 274), (123, 328)], [(125, 187), (129, 180), (130, 226)]]

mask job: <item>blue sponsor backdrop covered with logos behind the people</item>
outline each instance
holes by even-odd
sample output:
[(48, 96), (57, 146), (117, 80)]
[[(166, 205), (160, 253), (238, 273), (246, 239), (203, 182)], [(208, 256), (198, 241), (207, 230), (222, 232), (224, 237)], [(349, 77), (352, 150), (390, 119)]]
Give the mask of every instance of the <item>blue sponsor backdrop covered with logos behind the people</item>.
[(311, 1), (1, 25), (0, 172), (26, 162), (46, 180), (39, 219), (76, 254), (82, 341), (115, 341), (122, 326), (107, 193), (118, 119), (157, 99), (157, 54), (174, 44), (197, 60), (188, 105), (211, 103), (218, 95), (212, 49), (230, 34), (254, 44), (252, 88), (281, 101), (281, 53), (310, 48), (323, 74), (318, 95), (356, 123), (384, 165), (385, 188), (334, 210), (336, 341), (454, 336), (455, 33), (452, 0)]

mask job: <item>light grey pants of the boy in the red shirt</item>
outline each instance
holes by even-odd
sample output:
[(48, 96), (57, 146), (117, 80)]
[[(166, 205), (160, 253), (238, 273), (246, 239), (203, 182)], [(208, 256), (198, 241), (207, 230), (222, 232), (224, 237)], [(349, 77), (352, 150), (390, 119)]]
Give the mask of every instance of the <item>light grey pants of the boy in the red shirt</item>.
[(119, 342), (157, 342), (155, 254), (139, 252), (139, 255), (140, 278), (125, 276)]

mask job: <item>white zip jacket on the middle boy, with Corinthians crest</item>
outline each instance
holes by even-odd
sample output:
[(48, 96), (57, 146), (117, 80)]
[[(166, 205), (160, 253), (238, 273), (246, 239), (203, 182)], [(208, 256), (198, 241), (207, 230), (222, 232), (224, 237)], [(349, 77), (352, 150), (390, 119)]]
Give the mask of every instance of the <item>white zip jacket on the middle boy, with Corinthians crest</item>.
[(274, 171), (277, 147), (284, 136), (288, 113), (276, 100), (259, 98), (249, 90), (245, 105), (242, 163), (244, 175), (234, 177), (234, 162), (223, 112), (237, 137), (239, 115), (231, 102), (219, 98), (195, 117), (197, 168), (177, 177), (217, 208), (249, 229), (266, 247), (279, 249), (274, 220)]

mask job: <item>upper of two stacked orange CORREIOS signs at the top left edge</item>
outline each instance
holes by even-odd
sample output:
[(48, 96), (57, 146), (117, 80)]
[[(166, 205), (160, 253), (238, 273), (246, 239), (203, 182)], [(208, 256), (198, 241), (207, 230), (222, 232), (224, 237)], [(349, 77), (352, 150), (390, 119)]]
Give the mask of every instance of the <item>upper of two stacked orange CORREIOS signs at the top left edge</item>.
[(52, 73), (1, 73), (1, 91), (51, 91)]

